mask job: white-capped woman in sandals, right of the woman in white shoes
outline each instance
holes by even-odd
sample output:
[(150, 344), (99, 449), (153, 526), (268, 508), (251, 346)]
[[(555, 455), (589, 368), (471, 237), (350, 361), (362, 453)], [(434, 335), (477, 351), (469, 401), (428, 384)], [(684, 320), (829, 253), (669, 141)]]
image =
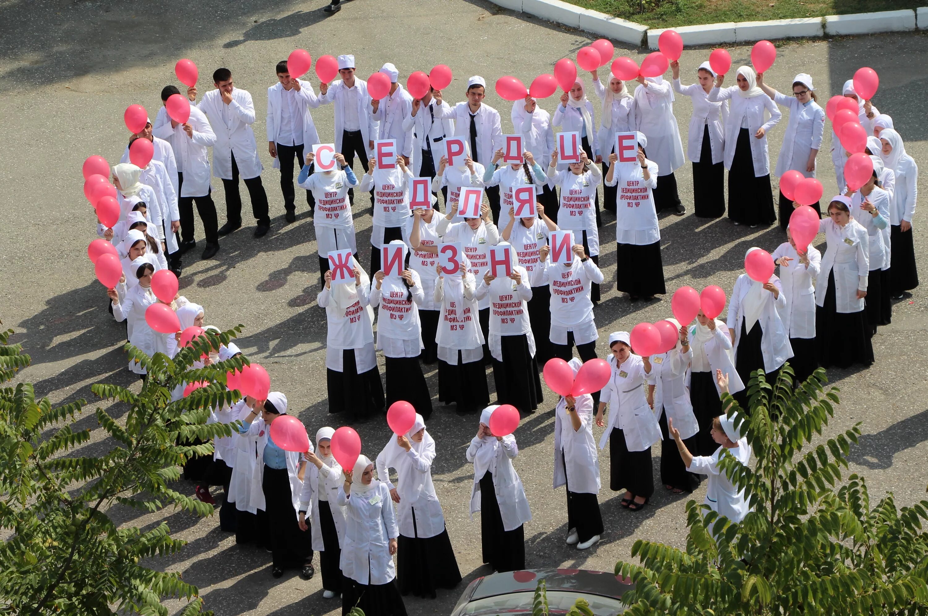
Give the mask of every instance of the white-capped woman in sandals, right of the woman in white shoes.
[[(657, 417), (645, 394), (645, 370), (651, 369), (651, 361), (633, 353), (627, 331), (609, 335), (609, 350), (612, 373), (600, 392), (596, 412), (596, 425), (606, 429), (599, 439), (599, 449), (605, 449), (609, 442), (609, 487), (612, 492), (625, 488), (620, 504), (638, 511), (654, 494), (651, 445), (661, 440)], [(609, 420), (603, 421), (607, 405)]]

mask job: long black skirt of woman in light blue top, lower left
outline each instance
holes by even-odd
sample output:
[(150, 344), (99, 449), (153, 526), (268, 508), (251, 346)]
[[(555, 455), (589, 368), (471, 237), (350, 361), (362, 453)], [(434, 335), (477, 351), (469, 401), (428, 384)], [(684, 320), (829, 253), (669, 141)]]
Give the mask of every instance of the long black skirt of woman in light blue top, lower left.
[[(297, 513), (290, 497), (290, 477), (286, 468), (264, 465), (264, 510), (271, 539), (271, 556), (279, 569), (303, 569), (313, 561), (312, 528), (300, 530)], [(308, 522), (307, 522), (308, 523)]]

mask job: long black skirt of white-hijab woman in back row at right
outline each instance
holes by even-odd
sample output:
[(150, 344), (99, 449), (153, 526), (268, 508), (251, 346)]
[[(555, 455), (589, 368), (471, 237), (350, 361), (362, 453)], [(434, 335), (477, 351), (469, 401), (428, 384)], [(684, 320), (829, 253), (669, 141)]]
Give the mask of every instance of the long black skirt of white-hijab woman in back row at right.
[(772, 225), (777, 222), (773, 209), (770, 174), (754, 176), (751, 132), (742, 128), (735, 156), (728, 170), (728, 218), (741, 225)]

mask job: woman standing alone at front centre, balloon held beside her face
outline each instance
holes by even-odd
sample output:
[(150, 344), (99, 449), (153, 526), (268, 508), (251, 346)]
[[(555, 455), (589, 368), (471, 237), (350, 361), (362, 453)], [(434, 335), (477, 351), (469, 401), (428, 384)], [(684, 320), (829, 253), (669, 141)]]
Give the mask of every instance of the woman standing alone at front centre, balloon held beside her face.
[(470, 489), (470, 518), (480, 511), (483, 562), (493, 571), (525, 569), (525, 531), (532, 520), (522, 480), (512, 467), (519, 455), (516, 438), (494, 436), (490, 417), (499, 407), (493, 404), (480, 414), (477, 436), (467, 448), (467, 461), (473, 463), (473, 487)]

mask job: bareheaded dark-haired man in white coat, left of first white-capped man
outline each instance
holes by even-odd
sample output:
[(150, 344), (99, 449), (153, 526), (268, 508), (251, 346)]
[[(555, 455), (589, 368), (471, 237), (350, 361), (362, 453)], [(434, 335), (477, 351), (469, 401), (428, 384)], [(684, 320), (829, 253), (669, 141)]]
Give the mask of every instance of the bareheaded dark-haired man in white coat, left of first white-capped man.
[[(267, 151), (280, 170), (280, 192), (284, 196), (285, 218), (296, 220), (296, 192), (293, 189), (293, 159), (303, 168), (306, 154), (319, 143), (316, 123), (309, 108), (316, 109), (322, 99), (309, 82), (290, 77), (287, 60), (277, 62), (277, 83), (267, 88)], [(306, 191), (309, 213), (316, 210), (313, 193)]]

